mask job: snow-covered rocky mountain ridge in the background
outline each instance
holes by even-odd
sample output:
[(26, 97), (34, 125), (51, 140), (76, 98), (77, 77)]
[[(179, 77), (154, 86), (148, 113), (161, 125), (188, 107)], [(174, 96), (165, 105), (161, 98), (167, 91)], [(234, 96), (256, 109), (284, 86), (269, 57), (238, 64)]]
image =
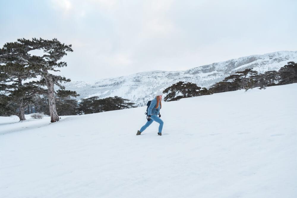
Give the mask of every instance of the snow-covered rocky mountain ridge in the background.
[(135, 102), (138, 106), (143, 106), (152, 99), (157, 90), (164, 90), (178, 81), (188, 81), (209, 88), (237, 71), (253, 68), (259, 73), (264, 73), (269, 70), (279, 70), (288, 61), (297, 61), (297, 51), (246, 56), (186, 71), (151, 71), (94, 82), (74, 81), (65, 86), (66, 89), (77, 91), (80, 94), (78, 99), (91, 96), (100, 98), (120, 96)]

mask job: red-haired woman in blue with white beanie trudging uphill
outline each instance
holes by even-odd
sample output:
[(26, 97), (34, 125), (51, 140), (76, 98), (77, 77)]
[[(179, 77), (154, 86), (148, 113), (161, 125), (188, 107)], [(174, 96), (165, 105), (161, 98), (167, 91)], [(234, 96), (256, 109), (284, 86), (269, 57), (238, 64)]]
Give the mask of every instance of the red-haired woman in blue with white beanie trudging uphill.
[[(162, 128), (163, 128), (163, 121), (161, 120), (161, 114), (160, 114), (160, 109), (162, 108), (162, 91), (157, 91), (156, 97), (151, 101), (151, 105), (148, 108), (148, 117), (147, 117), (147, 122), (141, 129), (137, 132), (136, 135), (140, 135), (141, 132), (146, 130), (148, 126), (151, 125), (154, 121), (159, 123), (159, 132), (158, 135), (162, 135)], [(159, 115), (159, 117), (158, 117)]]

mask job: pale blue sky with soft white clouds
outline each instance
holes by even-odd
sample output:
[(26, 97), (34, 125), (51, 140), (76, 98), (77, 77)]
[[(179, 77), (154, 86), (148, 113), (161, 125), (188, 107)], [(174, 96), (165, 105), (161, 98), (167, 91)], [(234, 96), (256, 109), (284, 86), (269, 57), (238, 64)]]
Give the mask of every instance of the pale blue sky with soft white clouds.
[(0, 47), (18, 38), (71, 44), (72, 81), (177, 71), (297, 50), (296, 0), (0, 0)]

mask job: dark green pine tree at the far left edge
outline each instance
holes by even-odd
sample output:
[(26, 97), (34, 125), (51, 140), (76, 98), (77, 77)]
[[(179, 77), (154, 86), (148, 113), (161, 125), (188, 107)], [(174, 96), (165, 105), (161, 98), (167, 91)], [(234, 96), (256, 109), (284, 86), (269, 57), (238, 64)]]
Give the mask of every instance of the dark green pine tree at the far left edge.
[(6, 109), (14, 112), (20, 121), (26, 120), (24, 109), (41, 89), (35, 83), (23, 83), (36, 77), (26, 60), (30, 49), (19, 42), (6, 43), (0, 49), (0, 91), (7, 96), (2, 97), (2, 107), (9, 105)]

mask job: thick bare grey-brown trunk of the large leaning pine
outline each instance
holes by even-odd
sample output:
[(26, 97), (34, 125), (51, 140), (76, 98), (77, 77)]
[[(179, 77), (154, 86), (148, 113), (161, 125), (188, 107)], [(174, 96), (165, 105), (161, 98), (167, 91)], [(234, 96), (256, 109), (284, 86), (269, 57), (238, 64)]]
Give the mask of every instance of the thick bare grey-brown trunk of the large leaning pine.
[(48, 103), (50, 108), (50, 122), (59, 121), (59, 116), (57, 113), (56, 102), (55, 102), (55, 93), (54, 93), (54, 83), (53, 77), (50, 74), (45, 76), (46, 86), (48, 87)]

